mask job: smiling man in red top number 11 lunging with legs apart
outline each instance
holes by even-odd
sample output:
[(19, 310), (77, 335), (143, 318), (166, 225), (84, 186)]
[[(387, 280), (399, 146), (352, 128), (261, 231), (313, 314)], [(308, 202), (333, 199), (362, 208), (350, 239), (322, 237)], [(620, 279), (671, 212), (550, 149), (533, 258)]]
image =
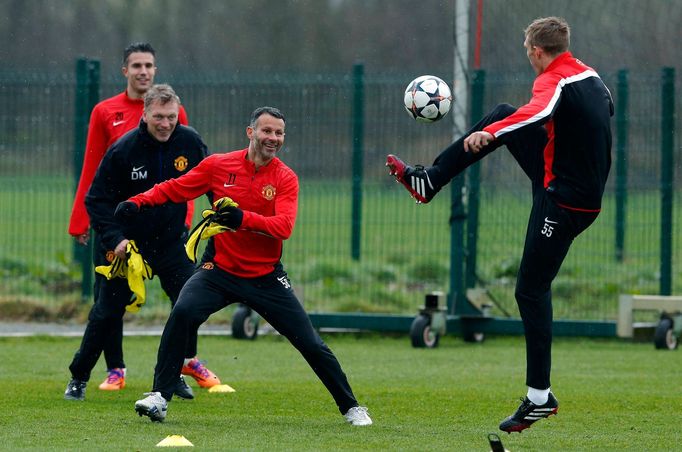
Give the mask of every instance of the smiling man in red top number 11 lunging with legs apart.
[(276, 157), (284, 144), (284, 125), (278, 109), (258, 108), (246, 128), (248, 148), (210, 155), (187, 174), (132, 196), (116, 209), (118, 218), (132, 221), (149, 207), (206, 193), (214, 202), (229, 197), (238, 204), (221, 212), (220, 224), (230, 231), (209, 239), (199, 268), (171, 311), (161, 336), (152, 392), (135, 403), (140, 416), (165, 419), (190, 331), (225, 306), (244, 303), (303, 355), (347, 422), (372, 423), (336, 357), (310, 323), (280, 261), (282, 242), (293, 231), (298, 209), (298, 177)]

